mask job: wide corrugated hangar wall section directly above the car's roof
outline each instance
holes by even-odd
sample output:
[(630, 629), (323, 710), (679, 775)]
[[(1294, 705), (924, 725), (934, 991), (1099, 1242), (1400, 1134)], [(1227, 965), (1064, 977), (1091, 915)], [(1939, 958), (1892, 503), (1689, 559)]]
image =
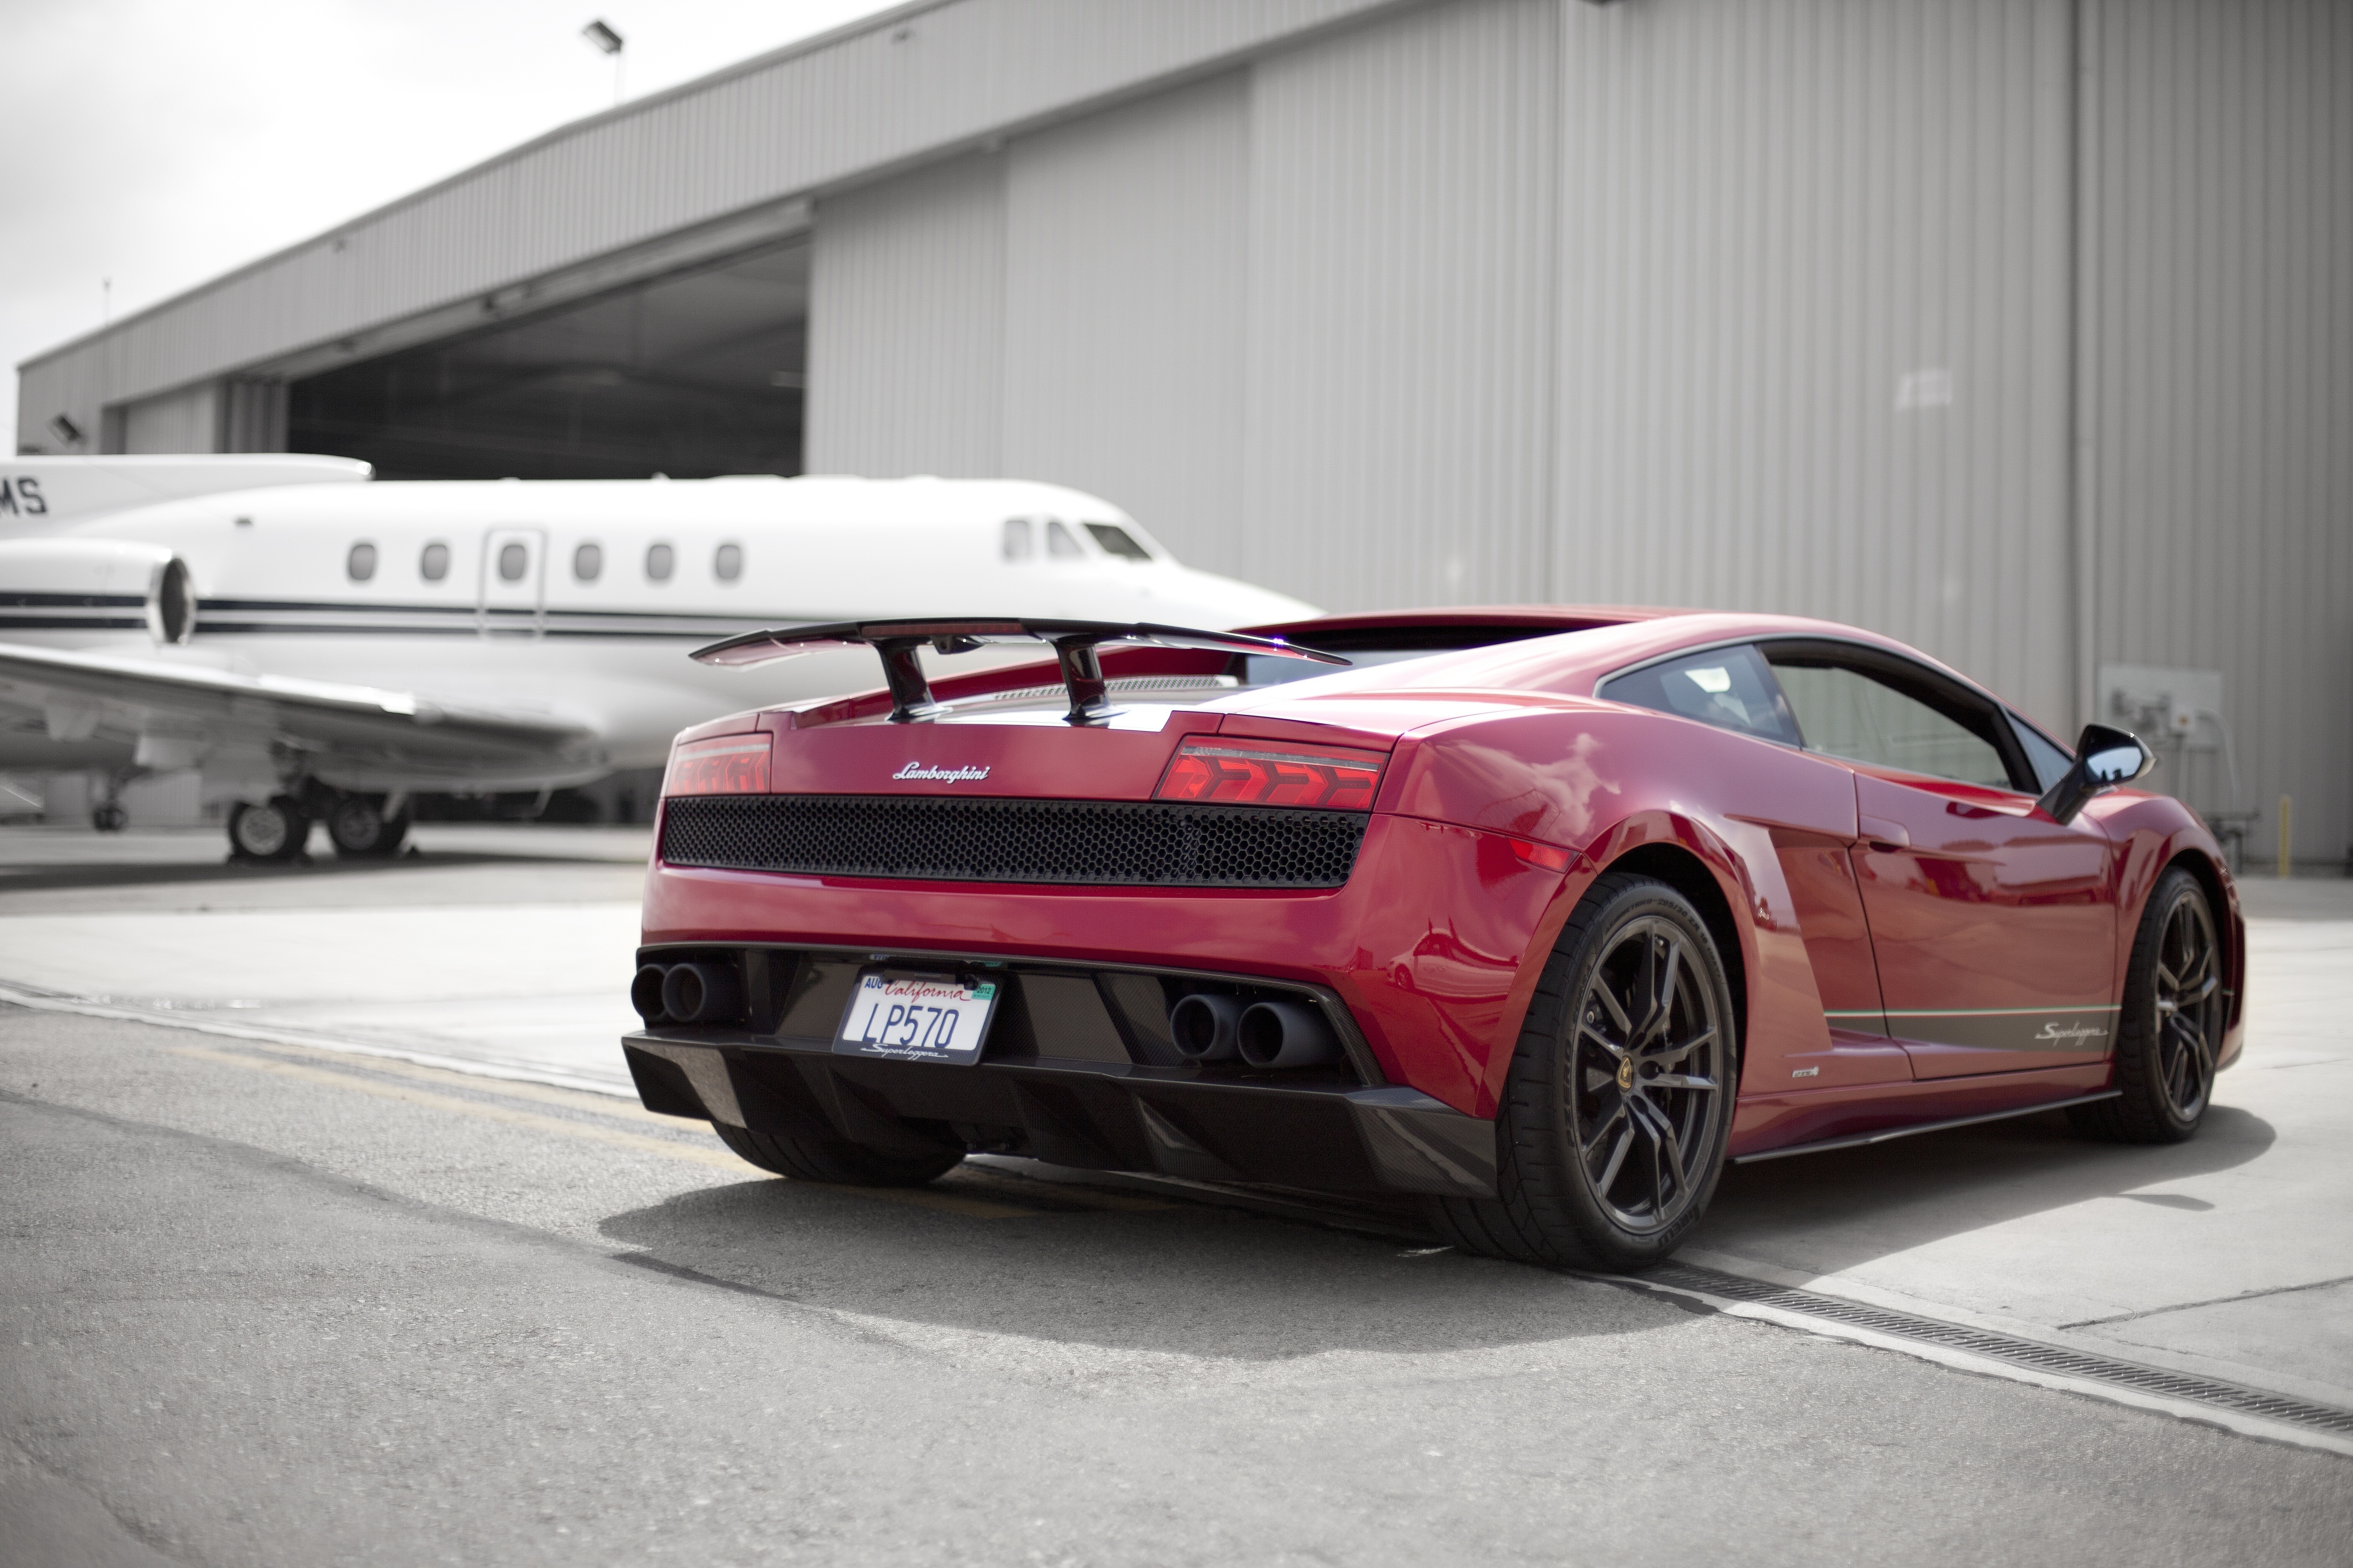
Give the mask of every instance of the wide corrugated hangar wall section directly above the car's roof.
[(1551, 590), (1871, 625), (2066, 729), (2066, 5), (1569, 5), (1560, 59)]

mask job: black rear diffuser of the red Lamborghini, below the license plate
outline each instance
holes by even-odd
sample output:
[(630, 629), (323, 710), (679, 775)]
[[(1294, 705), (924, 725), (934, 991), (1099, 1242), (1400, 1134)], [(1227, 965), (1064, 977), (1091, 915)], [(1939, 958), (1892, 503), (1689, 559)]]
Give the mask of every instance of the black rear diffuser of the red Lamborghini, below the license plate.
[(1494, 1197), (1494, 1124), (1417, 1088), (1202, 1081), (1191, 1067), (835, 1056), (711, 1030), (621, 1041), (647, 1110), (936, 1150), (941, 1131), (1061, 1166), (1315, 1192)]

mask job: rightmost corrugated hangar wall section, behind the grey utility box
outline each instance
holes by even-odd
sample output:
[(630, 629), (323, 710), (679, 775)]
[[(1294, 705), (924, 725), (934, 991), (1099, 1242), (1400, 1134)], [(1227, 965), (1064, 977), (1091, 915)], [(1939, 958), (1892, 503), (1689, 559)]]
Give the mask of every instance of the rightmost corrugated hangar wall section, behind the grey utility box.
[(2353, 7), (2087, 0), (2101, 661), (2219, 668), (2247, 806), (2353, 842)]

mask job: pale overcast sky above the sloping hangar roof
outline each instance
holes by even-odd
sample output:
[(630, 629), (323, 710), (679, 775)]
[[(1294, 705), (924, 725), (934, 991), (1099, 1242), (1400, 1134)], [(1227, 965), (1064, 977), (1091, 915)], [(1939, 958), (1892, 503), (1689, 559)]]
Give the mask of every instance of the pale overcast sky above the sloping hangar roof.
[[(0, 440), (16, 362), (612, 106), (887, 0), (0, 0)], [(602, 7), (602, 9), (598, 9)]]

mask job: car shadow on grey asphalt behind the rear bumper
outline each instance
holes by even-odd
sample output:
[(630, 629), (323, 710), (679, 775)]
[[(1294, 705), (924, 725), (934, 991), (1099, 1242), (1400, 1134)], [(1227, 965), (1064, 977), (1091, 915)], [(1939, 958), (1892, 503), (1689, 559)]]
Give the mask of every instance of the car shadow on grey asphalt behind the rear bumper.
[[(1064, 1201), (1047, 1182), (965, 1173), (939, 1192)], [(1224, 1361), (1482, 1349), (1687, 1321), (1626, 1288), (1191, 1201), (967, 1218), (753, 1180), (614, 1215), (602, 1234), (642, 1248), (635, 1262), (814, 1307)]]

